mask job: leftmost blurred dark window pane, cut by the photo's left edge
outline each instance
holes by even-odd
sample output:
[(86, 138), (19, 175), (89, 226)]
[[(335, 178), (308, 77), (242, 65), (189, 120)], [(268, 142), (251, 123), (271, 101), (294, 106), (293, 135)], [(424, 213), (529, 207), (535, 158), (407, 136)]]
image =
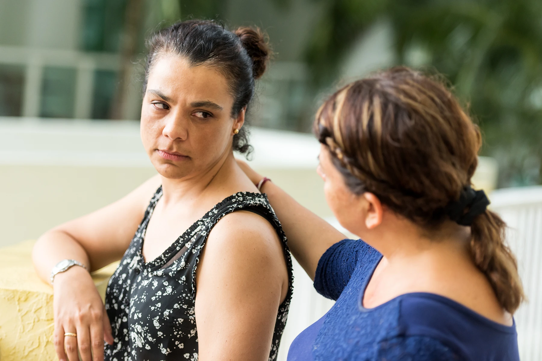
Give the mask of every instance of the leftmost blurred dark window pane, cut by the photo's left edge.
[(0, 116), (20, 116), (24, 67), (0, 64)]

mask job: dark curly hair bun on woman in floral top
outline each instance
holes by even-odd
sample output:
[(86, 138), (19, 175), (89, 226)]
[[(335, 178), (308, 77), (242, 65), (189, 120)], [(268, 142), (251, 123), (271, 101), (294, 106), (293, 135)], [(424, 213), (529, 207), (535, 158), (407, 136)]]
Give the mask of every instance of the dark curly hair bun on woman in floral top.
[(252, 74), (255, 79), (266, 71), (271, 50), (260, 28), (240, 27), (234, 34), (241, 39), (241, 44), (252, 58)]

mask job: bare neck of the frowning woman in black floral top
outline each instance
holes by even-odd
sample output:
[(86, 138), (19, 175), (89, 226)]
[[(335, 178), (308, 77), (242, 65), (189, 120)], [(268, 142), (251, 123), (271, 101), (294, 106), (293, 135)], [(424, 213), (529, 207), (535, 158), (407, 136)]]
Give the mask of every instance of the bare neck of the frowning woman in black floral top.
[(232, 152), (224, 153), (217, 161), (197, 174), (179, 179), (162, 176), (162, 199), (164, 204), (183, 200), (199, 199), (223, 186), (235, 172), (235, 158)]

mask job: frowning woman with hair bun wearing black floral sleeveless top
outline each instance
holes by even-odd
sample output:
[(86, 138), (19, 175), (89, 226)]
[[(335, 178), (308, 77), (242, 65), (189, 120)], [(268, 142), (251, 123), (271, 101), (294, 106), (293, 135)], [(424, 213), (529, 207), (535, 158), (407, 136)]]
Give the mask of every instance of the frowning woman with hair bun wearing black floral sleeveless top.
[[(249, 152), (243, 124), (267, 44), (259, 29), (192, 20), (148, 47), (141, 140), (159, 174), (34, 247), (54, 288), (57, 355), (275, 360), (292, 262), (266, 196), (233, 156)], [(104, 307), (89, 272), (115, 260)]]

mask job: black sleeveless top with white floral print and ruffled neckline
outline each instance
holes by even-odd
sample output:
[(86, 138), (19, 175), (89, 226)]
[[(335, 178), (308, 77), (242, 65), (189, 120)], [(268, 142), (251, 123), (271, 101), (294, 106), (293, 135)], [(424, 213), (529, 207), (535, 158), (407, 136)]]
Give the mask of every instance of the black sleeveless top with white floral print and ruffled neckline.
[(113, 328), (113, 345), (105, 345), (108, 361), (198, 359), (195, 298), (196, 268), (212, 227), (238, 210), (260, 214), (279, 234), (289, 275), (286, 299), (279, 306), (269, 360), (275, 360), (286, 325), (293, 291), (292, 260), (286, 236), (265, 194), (236, 193), (196, 221), (157, 259), (145, 263), (145, 230), (162, 187), (154, 194), (120, 265), (109, 280), (105, 307)]

